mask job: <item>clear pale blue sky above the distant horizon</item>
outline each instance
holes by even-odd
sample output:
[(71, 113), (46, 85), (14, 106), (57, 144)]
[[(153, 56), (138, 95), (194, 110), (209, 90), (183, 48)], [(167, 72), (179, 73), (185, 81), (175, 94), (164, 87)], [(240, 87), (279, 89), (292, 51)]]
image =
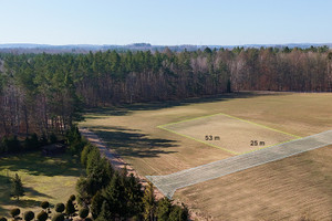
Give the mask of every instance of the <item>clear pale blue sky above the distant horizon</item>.
[(331, 0), (0, 0), (0, 44), (332, 43)]

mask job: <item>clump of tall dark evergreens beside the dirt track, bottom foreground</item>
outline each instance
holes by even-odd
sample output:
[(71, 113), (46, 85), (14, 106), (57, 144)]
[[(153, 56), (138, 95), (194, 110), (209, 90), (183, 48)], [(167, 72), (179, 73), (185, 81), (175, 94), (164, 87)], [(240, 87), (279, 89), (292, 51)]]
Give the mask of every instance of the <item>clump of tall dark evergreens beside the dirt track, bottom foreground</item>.
[(168, 198), (156, 200), (152, 183), (143, 187), (126, 168), (114, 170), (98, 148), (90, 143), (81, 152), (81, 162), (86, 168), (86, 176), (77, 180), (77, 200), (90, 208), (94, 220), (188, 220), (185, 206), (174, 204)]

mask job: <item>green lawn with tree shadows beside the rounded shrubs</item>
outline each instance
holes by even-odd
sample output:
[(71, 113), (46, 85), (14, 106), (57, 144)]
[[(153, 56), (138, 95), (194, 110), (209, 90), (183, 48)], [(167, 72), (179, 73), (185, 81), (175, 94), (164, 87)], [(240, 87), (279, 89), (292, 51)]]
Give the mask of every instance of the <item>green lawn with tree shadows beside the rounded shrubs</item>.
[[(40, 203), (65, 203), (75, 193), (75, 183), (83, 173), (80, 161), (69, 154), (44, 157), (40, 151), (0, 158), (0, 217), (8, 217), (13, 207), (21, 212), (39, 212)], [(25, 196), (20, 201), (10, 197), (9, 177), (21, 177)]]

